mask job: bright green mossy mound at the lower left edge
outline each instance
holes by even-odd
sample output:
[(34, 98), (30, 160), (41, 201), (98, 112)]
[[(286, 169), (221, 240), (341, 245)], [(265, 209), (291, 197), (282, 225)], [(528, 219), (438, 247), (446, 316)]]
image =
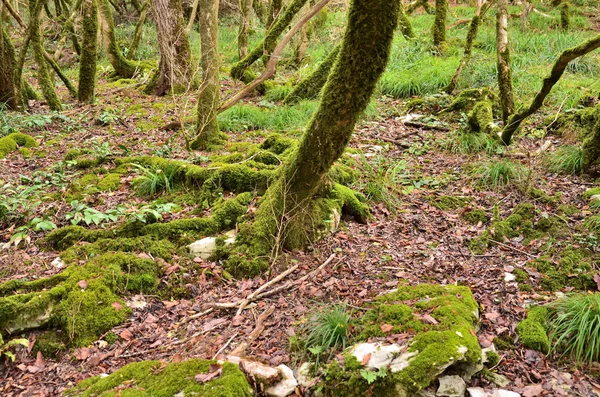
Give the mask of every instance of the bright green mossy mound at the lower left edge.
[(62, 329), (73, 345), (86, 346), (127, 318), (122, 294), (153, 291), (159, 275), (154, 261), (107, 253), (83, 266), (70, 264), (50, 279), (8, 282), (0, 285), (0, 324), (9, 332)]

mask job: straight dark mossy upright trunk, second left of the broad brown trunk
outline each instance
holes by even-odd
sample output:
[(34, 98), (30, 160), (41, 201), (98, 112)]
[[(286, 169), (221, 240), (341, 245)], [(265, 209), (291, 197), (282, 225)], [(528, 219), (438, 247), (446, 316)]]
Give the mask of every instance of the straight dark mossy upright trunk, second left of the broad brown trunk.
[(98, 3), (83, 1), (83, 34), (79, 58), (79, 102), (93, 102), (98, 63)]

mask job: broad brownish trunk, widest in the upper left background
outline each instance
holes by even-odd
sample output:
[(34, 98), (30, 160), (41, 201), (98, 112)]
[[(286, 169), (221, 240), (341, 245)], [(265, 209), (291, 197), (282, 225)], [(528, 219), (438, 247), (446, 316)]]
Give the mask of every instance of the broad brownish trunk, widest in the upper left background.
[(160, 63), (154, 95), (183, 91), (192, 79), (190, 42), (180, 0), (152, 0)]

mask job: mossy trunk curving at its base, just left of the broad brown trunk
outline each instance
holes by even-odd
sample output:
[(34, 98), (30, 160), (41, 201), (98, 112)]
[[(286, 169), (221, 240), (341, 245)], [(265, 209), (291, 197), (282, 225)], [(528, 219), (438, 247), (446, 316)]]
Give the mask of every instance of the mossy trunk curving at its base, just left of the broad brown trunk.
[(137, 65), (123, 56), (117, 39), (115, 37), (115, 21), (109, 0), (98, 0), (98, 22), (100, 24), (100, 33), (104, 52), (110, 60), (115, 73), (122, 78), (129, 79), (133, 77), (137, 70)]

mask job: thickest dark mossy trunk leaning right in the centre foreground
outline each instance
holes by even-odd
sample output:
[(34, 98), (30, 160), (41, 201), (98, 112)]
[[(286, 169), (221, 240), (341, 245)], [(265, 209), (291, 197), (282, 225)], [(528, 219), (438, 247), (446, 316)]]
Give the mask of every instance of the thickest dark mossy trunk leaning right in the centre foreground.
[(296, 153), (267, 190), (251, 226), (252, 241), (263, 254), (274, 246), (294, 249), (311, 242), (308, 225), (327, 211), (319, 192), (327, 188), (326, 174), (344, 153), (385, 70), (398, 9), (397, 1), (352, 1), (342, 48), (319, 108)]

